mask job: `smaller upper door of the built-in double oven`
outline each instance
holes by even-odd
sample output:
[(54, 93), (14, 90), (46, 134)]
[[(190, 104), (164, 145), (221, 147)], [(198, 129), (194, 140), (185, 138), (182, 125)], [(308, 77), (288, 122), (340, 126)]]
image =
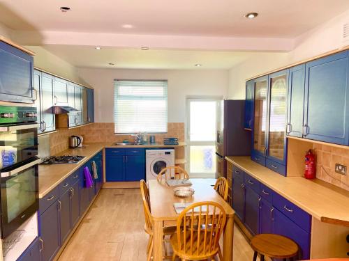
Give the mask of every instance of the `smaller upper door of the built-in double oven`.
[(38, 124), (0, 126), (0, 168), (38, 155)]

